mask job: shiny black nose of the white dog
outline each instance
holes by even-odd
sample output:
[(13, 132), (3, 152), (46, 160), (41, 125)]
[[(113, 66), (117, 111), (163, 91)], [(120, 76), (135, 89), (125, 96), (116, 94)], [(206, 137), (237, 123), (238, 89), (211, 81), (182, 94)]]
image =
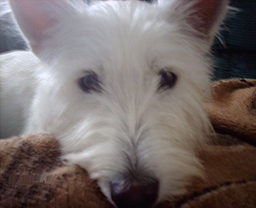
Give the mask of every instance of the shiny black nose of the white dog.
[(111, 197), (119, 208), (150, 208), (158, 197), (159, 181), (144, 177), (140, 180), (125, 175), (114, 178)]

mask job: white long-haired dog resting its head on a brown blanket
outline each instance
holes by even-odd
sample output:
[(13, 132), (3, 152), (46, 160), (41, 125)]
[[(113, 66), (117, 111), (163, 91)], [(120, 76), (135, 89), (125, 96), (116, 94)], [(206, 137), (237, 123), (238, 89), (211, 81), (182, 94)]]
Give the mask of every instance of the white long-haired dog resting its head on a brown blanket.
[(11, 0), (32, 51), (1, 56), (1, 136), (46, 132), (117, 207), (202, 176), (212, 40), (227, 0)]

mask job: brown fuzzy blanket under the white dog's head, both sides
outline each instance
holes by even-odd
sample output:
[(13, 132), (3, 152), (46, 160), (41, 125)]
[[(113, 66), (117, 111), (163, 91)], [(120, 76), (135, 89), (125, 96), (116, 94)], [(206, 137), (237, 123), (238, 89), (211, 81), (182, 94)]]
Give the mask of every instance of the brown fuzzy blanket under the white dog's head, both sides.
[[(213, 85), (205, 108), (217, 137), (199, 152), (205, 179), (157, 207), (256, 207), (256, 80)], [(59, 160), (50, 135), (0, 140), (0, 207), (113, 207), (85, 170)]]

